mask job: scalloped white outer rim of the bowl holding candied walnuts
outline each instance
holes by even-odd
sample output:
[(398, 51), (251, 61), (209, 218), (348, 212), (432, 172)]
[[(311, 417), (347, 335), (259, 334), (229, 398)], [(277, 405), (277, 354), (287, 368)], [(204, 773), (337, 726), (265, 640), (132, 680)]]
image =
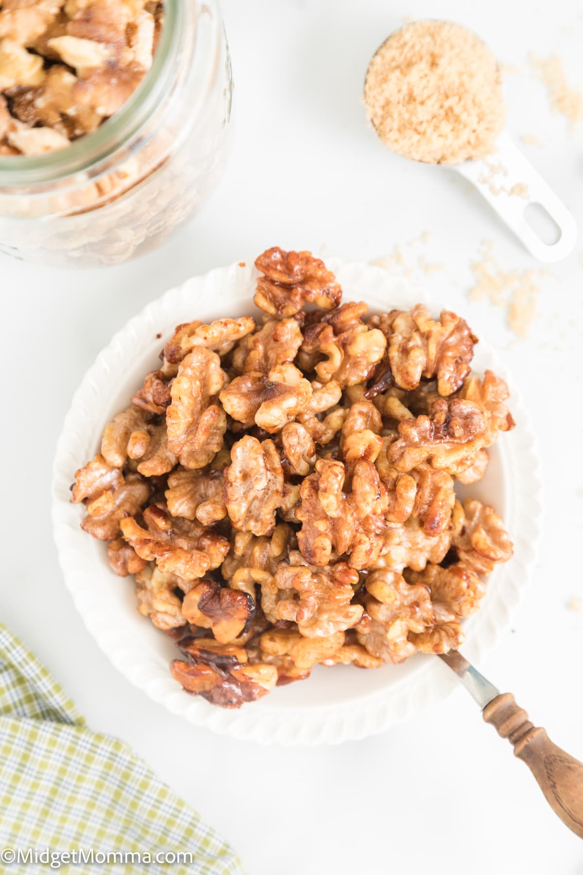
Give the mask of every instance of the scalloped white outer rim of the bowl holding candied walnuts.
[[(430, 308), (433, 305), (433, 309), (437, 309), (425, 290), (404, 277), (391, 276), (383, 268), (360, 262), (342, 262), (335, 258), (327, 258), (326, 262), (337, 273), (343, 286), (350, 285), (363, 291), (368, 287), (378, 290), (375, 294), (371, 291), (362, 294), (371, 309), (386, 309), (386, 298), (390, 299), (391, 295), (414, 295), (415, 300), (429, 305)], [(68, 500), (65, 501), (74, 471), (78, 467), (78, 463), (74, 461), (75, 452), (78, 451), (83, 436), (94, 430), (91, 401), (103, 393), (107, 394), (108, 388), (111, 390), (115, 372), (120, 372), (123, 367), (124, 356), (130, 360), (133, 352), (142, 352), (145, 357), (143, 346), (155, 338), (159, 330), (156, 326), (164, 321), (170, 324), (181, 321), (179, 312), (194, 309), (201, 294), (218, 297), (218, 307), (225, 289), (230, 289), (230, 295), (236, 295), (241, 300), (245, 296), (252, 299), (256, 276), (258, 274), (252, 260), (243, 264), (235, 262), (224, 268), (193, 276), (143, 307), (142, 311), (130, 318), (115, 333), (108, 346), (98, 353), (94, 364), (88, 368), (73, 395), (57, 443), (52, 472), (53, 537), (66, 587), (88, 632), (121, 674), (130, 683), (144, 690), (151, 699), (163, 704), (172, 713), (180, 714), (194, 725), (205, 725), (214, 732), (237, 739), (287, 746), (338, 744), (383, 732), (392, 725), (412, 718), (430, 704), (447, 697), (455, 689), (454, 676), (440, 660), (431, 661), (431, 657), (420, 657), (425, 665), (413, 673), (408, 682), (404, 677), (402, 682), (392, 684), (390, 693), (380, 689), (367, 694), (358, 700), (358, 708), (350, 701), (297, 709), (278, 705), (270, 705), (266, 709), (261, 708), (260, 703), (255, 703), (248, 704), (239, 711), (231, 711), (208, 704), (200, 697), (189, 697), (172, 680), (167, 669), (166, 678), (149, 676), (151, 660), (147, 656), (141, 658), (141, 655), (134, 652), (128, 655), (128, 648), (123, 646), (120, 634), (115, 634), (108, 627), (108, 619), (98, 610), (91, 589), (87, 556), (83, 556), (77, 543), (80, 534), (84, 538), (87, 535), (81, 532), (79, 521), (76, 527), (72, 526), (71, 505)], [(350, 291), (346, 293), (346, 297), (357, 299), (358, 296)], [(172, 315), (174, 313), (177, 315)], [(163, 340), (156, 340), (158, 345), (162, 342)], [(480, 347), (482, 357), (485, 355), (491, 360), (487, 367), (494, 367), (497, 374), (508, 380), (508, 374), (492, 347), (482, 340)], [(528, 478), (528, 490), (524, 488), (511, 493), (512, 516), (515, 520), (528, 522), (528, 533), (518, 532), (516, 528), (511, 532), (515, 542), (515, 555), (511, 560), (511, 574), (506, 575), (509, 580), (504, 584), (503, 596), (498, 597), (499, 604), (494, 606), (496, 610), (492, 608), (491, 616), (481, 623), (480, 634), (472, 634), (463, 645), (463, 653), (471, 662), (479, 662), (509, 627), (537, 559), (542, 486), (536, 438), (520, 395), (514, 387), (511, 387), (511, 397), (512, 413), (519, 424), (520, 432), (513, 444), (505, 447), (502, 444), (501, 454), (505, 472), (510, 469), (514, 482), (520, 480), (519, 472), (523, 472), (524, 478)], [(91, 543), (92, 539), (87, 541)], [(480, 615), (481, 612), (478, 612), (475, 617)]]

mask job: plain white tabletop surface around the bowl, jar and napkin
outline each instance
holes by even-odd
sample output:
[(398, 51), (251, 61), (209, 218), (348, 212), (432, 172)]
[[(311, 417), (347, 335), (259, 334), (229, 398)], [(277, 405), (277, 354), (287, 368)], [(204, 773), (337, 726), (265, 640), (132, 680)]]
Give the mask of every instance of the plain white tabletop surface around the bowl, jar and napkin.
[[(419, 255), (445, 264), (432, 276), (415, 268), (413, 278), (501, 351), (544, 461), (538, 572), (513, 631), (482, 669), (583, 759), (583, 614), (566, 607), (573, 595), (583, 597), (580, 251), (540, 278), (531, 337), (513, 339), (503, 310), (468, 302), (469, 264), (487, 238), (504, 269), (537, 265), (462, 179), (385, 151), (360, 103), (371, 52), (406, 16), (471, 26), (501, 61), (519, 67), (506, 77), (509, 130), (544, 142), (524, 151), (583, 228), (583, 125), (573, 135), (551, 114), (527, 64), (531, 50), (559, 53), (583, 89), (582, 12), (567, 0), (225, 0), (236, 131), (225, 179), (198, 218), (163, 249), (113, 269), (81, 275), (0, 261), (0, 616), (90, 725), (134, 746), (232, 841), (250, 875), (581, 875), (583, 845), (463, 690), (376, 738), (290, 750), (214, 737), (132, 688), (80, 625), (52, 545), (52, 455), (71, 395), (95, 354), (143, 304), (187, 276), (268, 246), (368, 261), (399, 244), (413, 267)], [(407, 247), (424, 231), (431, 232), (427, 246)]]

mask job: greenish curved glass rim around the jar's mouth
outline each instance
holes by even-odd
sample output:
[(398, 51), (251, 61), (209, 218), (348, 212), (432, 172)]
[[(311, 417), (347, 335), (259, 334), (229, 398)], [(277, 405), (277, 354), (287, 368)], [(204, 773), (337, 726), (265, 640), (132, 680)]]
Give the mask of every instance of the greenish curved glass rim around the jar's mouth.
[(172, 61), (184, 30), (184, 5), (184, 0), (164, 0), (164, 25), (152, 66), (121, 109), (66, 149), (39, 156), (0, 157), (0, 186), (4, 191), (87, 172), (135, 137), (172, 88)]

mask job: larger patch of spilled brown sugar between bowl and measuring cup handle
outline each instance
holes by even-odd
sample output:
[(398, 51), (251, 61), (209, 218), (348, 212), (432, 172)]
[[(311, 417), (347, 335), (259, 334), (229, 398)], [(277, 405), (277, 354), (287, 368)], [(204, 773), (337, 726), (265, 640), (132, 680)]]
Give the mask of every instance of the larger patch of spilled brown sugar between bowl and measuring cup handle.
[(470, 300), (489, 300), (506, 311), (506, 324), (517, 337), (527, 338), (537, 314), (537, 298), (540, 293), (540, 278), (548, 270), (504, 270), (494, 256), (491, 241), (482, 242), (478, 258), (471, 262), (475, 284), (469, 290)]

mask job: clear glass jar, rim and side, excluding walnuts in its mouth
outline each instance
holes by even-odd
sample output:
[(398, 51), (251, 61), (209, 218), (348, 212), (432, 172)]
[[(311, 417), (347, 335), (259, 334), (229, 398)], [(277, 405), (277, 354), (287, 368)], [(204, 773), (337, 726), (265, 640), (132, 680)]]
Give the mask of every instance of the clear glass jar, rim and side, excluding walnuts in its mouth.
[(226, 159), (233, 80), (218, 0), (165, 0), (149, 73), (101, 127), (0, 158), (0, 251), (58, 267), (122, 262), (198, 208)]

